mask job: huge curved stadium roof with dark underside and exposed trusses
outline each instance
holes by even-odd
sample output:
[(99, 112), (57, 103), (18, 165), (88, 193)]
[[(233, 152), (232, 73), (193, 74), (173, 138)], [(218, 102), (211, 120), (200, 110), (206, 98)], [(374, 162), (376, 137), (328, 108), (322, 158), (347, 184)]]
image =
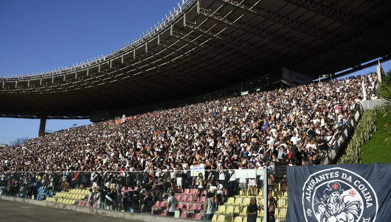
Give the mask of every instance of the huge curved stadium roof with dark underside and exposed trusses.
[(187, 0), (110, 55), (0, 78), (0, 117), (88, 118), (213, 91), (281, 66), (314, 78), (359, 69), (391, 59), (390, 9), (389, 0)]

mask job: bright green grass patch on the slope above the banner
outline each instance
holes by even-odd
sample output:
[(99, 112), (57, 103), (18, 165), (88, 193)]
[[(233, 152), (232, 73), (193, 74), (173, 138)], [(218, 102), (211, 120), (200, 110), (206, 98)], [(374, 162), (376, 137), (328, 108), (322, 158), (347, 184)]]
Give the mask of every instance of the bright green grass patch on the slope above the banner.
[(376, 128), (372, 133), (372, 138), (361, 147), (361, 163), (391, 163), (391, 143), (384, 141), (387, 137), (387, 131), (384, 125), (387, 118), (384, 113), (377, 113)]

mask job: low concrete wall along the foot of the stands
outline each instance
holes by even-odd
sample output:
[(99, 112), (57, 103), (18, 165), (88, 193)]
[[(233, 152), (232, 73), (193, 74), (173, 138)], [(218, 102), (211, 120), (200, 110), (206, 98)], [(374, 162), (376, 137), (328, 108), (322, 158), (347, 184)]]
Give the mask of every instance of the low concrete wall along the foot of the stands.
[(19, 197), (0, 196), (0, 199), (7, 200), (7, 201), (23, 202), (23, 203), (27, 203), (27, 204), (34, 204), (34, 205), (39, 205), (39, 206), (51, 207), (51, 208), (74, 210), (74, 211), (83, 212), (83, 213), (93, 213), (93, 214), (104, 215), (104, 216), (109, 216), (109, 217), (118, 217), (118, 218), (124, 218), (124, 219), (145, 221), (145, 222), (156, 222), (156, 221), (159, 221), (159, 222), (194, 222), (194, 220), (179, 219), (179, 218), (173, 218), (173, 217), (159, 217), (159, 216), (143, 214), (143, 213), (129, 213), (129, 212), (114, 211), (114, 210), (103, 210), (103, 209), (81, 207), (81, 206), (75, 206), (75, 205), (69, 205), (69, 204), (60, 204), (60, 203), (54, 203), (54, 202), (23, 199), (23, 198), (19, 198)]

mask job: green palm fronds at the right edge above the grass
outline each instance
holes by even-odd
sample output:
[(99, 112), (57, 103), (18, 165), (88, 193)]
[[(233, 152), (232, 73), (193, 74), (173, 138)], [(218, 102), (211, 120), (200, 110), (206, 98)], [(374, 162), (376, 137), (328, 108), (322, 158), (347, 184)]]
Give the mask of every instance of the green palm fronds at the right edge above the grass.
[(391, 69), (386, 73), (386, 76), (382, 78), (382, 82), (379, 84), (378, 92), (381, 97), (386, 99), (386, 103), (383, 105), (386, 113), (383, 117), (387, 118), (387, 124), (385, 128), (387, 130), (386, 140), (391, 141)]

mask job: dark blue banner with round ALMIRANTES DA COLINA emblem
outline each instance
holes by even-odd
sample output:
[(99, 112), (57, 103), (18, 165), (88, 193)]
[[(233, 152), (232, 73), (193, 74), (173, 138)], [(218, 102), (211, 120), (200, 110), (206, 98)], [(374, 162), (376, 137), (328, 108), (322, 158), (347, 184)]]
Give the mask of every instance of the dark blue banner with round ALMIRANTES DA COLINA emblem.
[(287, 222), (390, 222), (391, 164), (288, 167)]

